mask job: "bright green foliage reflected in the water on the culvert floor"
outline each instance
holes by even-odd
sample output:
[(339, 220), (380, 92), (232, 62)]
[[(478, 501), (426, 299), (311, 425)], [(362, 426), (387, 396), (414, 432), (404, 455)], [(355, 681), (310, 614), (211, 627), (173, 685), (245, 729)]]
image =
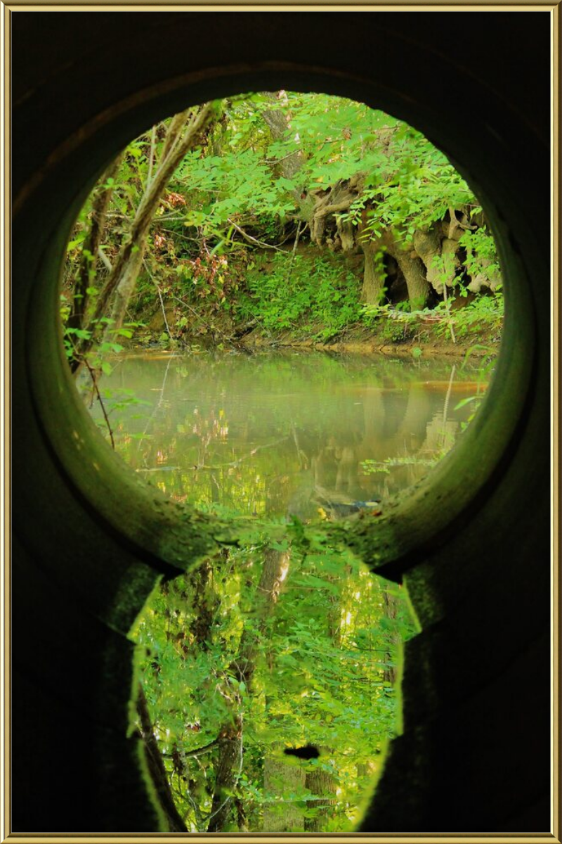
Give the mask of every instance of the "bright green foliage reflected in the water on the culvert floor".
[[(191, 754), (225, 724), (244, 723), (244, 766), (232, 793), (256, 830), (264, 828), (272, 800), (298, 801), (302, 817), (314, 814), (309, 790), (283, 790), (282, 778), (275, 793), (265, 787), (265, 769), (286, 760), (283, 748), (306, 743), (329, 750), (294, 764), (329, 772), (339, 796), (326, 821), (330, 830), (349, 829), (373, 760), (395, 731), (394, 690), (385, 672), (399, 659), (396, 642), (414, 632), (398, 587), (378, 581), (351, 556), (292, 549), (279, 600), (260, 619), (268, 541), (265, 531), (260, 543), (231, 549), (205, 572), (165, 585), (134, 631), (155, 734), (191, 831), (206, 830), (220, 745)], [(388, 589), (398, 602), (393, 617), (383, 609)], [(204, 634), (203, 605), (212, 615)], [(243, 636), (255, 640), (251, 690), (237, 679)]]

